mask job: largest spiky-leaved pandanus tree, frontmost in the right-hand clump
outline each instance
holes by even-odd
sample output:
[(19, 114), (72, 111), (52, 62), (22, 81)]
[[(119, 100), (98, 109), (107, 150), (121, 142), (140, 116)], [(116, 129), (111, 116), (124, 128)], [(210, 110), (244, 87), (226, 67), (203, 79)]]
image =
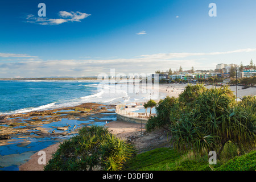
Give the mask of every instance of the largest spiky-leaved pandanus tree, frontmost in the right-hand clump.
[[(214, 150), (219, 155), (226, 142), (253, 147), (255, 113), (238, 107), (228, 87), (211, 88), (202, 92), (191, 113), (184, 114), (171, 125), (172, 143), (181, 153), (192, 148), (195, 155)], [(191, 106), (191, 104), (189, 104)]]

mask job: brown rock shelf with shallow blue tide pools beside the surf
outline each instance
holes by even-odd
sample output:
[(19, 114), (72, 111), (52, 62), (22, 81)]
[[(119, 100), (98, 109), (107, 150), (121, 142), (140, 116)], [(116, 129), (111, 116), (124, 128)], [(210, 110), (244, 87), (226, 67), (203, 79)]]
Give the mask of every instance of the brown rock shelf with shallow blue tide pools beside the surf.
[[(31, 135), (35, 138), (73, 135), (81, 126), (102, 122), (97, 115), (102, 113), (114, 113), (114, 105), (86, 103), (54, 110), (0, 115), (0, 146)], [(71, 125), (69, 121), (77, 121), (77, 125)]]

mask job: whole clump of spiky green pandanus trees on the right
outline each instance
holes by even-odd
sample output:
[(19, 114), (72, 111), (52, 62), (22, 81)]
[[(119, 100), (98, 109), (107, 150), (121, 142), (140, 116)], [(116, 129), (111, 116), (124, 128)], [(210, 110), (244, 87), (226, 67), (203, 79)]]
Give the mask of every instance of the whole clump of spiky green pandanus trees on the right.
[(229, 141), (249, 150), (256, 144), (256, 99), (246, 96), (238, 104), (235, 99), (228, 86), (188, 85), (179, 98), (158, 103), (157, 116), (148, 119), (146, 129), (170, 130), (171, 144), (180, 154), (192, 149), (203, 156), (214, 150), (220, 156)]

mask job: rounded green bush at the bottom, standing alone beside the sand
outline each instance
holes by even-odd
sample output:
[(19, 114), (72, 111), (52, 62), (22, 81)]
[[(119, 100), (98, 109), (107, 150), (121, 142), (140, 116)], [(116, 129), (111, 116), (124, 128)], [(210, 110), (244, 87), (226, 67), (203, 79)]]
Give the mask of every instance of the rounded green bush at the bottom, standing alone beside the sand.
[(134, 154), (134, 146), (116, 138), (108, 129), (83, 127), (78, 135), (60, 144), (44, 170), (120, 170)]

